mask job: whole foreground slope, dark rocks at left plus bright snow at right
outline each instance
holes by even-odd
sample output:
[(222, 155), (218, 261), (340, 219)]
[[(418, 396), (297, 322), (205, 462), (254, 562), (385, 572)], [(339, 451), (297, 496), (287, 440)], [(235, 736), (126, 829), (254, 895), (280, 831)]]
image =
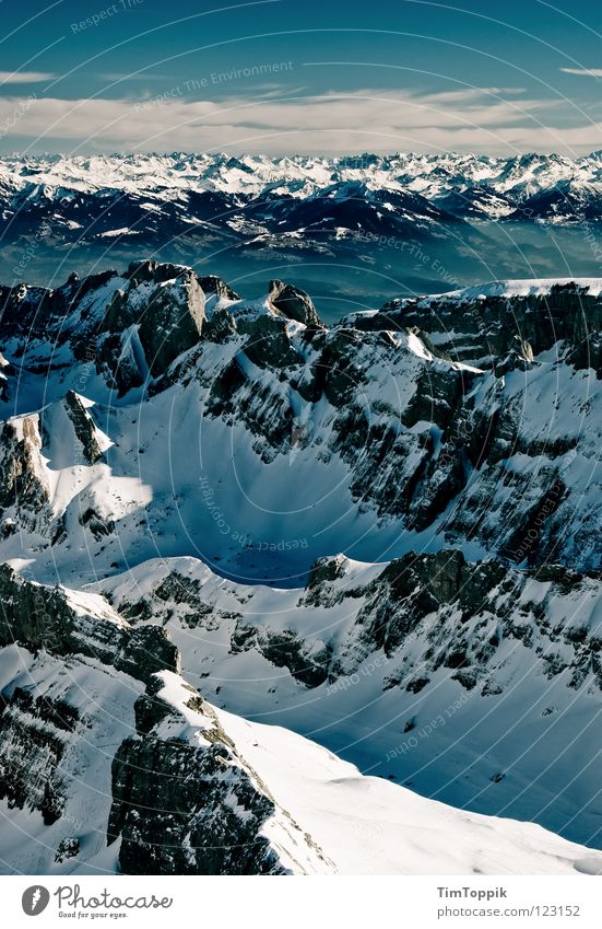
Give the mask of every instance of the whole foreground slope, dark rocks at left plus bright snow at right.
[(101, 597), (7, 568), (0, 584), (3, 873), (602, 870), (538, 826), (423, 800), (215, 710), (161, 627), (132, 630)]

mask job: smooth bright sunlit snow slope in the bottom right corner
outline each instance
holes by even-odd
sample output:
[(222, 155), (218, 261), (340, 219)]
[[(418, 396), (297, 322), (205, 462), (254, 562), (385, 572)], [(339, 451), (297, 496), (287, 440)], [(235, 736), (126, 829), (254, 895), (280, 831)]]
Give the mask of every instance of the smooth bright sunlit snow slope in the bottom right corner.
[(279, 803), (340, 874), (597, 874), (602, 853), (532, 823), (467, 813), (363, 777), (308, 740), (217, 711)]

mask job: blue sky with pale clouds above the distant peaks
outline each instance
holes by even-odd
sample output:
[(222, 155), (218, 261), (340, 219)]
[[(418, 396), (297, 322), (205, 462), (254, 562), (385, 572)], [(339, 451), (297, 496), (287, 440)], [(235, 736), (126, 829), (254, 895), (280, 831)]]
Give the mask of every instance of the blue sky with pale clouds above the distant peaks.
[(602, 148), (593, 0), (0, 0), (0, 151)]

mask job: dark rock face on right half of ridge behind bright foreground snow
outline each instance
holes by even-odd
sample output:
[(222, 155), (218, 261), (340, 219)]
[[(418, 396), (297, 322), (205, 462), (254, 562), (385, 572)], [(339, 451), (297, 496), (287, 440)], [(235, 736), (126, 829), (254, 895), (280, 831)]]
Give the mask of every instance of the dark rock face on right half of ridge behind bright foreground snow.
[[(588, 625), (587, 614), (580, 623), (575, 619), (577, 604), (587, 609), (600, 595), (598, 580), (559, 565), (518, 572), (494, 559), (471, 564), (453, 549), (410, 553), (363, 587), (339, 585), (337, 560), (317, 570), (321, 579), (312, 580), (303, 605), (344, 604), (355, 617), (346, 640), (333, 648), (331, 681), (352, 675), (382, 649), (397, 669), (389, 673), (388, 687), (420, 693), (438, 669), (447, 667), (462, 687), (479, 685), (487, 695), (497, 693), (493, 682), (507, 663), (505, 642), (514, 641), (541, 655), (547, 676), (564, 672), (567, 686), (578, 689), (593, 671), (602, 689), (600, 630)], [(538, 583), (546, 582), (542, 596)], [(553, 627), (551, 615), (556, 617)]]

